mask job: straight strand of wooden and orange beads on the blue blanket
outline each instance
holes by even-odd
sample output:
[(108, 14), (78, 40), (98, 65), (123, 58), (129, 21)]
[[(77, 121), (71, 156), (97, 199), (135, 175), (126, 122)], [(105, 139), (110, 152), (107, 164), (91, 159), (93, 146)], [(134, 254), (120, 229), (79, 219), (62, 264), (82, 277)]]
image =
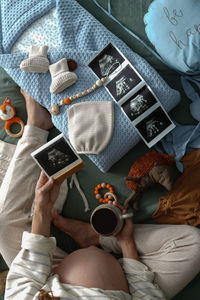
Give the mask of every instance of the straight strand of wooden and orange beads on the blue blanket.
[(57, 115), (59, 113), (59, 110), (60, 110), (60, 107), (62, 105), (69, 105), (71, 104), (71, 102), (77, 98), (81, 98), (81, 97), (84, 97), (92, 92), (94, 92), (98, 87), (102, 86), (105, 82), (106, 82), (106, 77), (103, 77), (101, 79), (98, 79), (96, 81), (96, 83), (89, 89), (83, 91), (83, 92), (80, 92), (78, 94), (74, 94), (70, 97), (66, 97), (65, 99), (61, 100), (60, 103), (58, 104), (53, 104), (50, 108), (50, 112), (52, 115)]

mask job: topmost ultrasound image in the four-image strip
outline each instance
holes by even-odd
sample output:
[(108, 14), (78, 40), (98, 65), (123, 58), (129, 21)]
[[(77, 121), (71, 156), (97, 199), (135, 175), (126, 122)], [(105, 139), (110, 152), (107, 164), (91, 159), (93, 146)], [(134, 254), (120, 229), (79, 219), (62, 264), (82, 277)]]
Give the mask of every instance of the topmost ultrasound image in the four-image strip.
[(112, 74), (125, 59), (110, 43), (108, 44), (89, 64), (88, 66), (99, 77), (107, 77)]

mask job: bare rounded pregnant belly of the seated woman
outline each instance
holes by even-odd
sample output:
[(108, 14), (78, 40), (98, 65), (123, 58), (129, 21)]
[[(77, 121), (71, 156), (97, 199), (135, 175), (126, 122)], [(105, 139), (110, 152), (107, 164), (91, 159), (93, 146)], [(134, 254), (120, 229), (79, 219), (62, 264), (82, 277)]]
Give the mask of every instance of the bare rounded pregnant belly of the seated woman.
[(69, 254), (54, 270), (62, 283), (129, 293), (119, 262), (109, 253), (91, 246)]

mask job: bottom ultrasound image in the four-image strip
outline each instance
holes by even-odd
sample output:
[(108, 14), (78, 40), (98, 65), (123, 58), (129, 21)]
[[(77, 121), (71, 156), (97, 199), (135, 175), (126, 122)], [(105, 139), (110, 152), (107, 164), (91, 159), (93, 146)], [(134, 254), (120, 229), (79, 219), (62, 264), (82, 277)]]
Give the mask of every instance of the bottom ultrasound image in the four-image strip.
[(138, 129), (147, 143), (149, 143), (172, 124), (173, 123), (163, 109), (158, 107), (135, 127)]

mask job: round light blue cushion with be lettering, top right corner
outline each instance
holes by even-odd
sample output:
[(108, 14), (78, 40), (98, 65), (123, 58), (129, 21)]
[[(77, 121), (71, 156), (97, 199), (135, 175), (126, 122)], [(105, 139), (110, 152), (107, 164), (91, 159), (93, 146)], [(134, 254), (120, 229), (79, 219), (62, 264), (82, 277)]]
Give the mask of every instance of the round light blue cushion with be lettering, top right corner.
[(183, 73), (200, 73), (200, 1), (154, 0), (146, 34), (163, 60)]

